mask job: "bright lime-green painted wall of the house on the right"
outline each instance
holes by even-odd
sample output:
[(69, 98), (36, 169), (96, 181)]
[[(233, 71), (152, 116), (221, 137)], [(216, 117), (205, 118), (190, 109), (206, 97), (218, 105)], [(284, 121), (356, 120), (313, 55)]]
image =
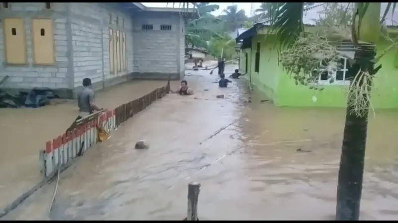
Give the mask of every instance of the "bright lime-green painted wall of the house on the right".
[[(260, 43), (259, 72), (255, 72), (256, 45)], [(265, 93), (277, 106), (291, 107), (346, 107), (348, 86), (324, 85), (323, 91), (314, 91), (308, 86), (295, 85), (295, 81), (278, 64), (278, 50), (274, 36), (257, 35), (252, 39), (250, 52), (250, 79), (255, 88)], [(377, 52), (383, 52), (389, 43), (381, 41)], [(392, 50), (382, 57), (382, 69), (374, 79), (372, 105), (375, 109), (398, 108), (398, 50)], [(241, 57), (242, 60), (242, 57)], [(243, 66), (244, 69), (244, 66)], [(242, 66), (241, 66), (242, 70)], [(242, 70), (243, 71), (243, 70)], [(316, 101), (313, 101), (313, 96)]]

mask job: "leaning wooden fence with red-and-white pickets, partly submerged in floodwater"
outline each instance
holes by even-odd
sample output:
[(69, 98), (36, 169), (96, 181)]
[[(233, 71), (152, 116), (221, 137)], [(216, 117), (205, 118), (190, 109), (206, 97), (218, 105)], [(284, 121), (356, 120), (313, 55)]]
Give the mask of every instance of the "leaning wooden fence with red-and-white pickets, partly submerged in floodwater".
[(170, 78), (165, 87), (158, 88), (141, 98), (112, 111), (99, 111), (75, 121), (64, 134), (48, 141), (46, 149), (40, 151), (39, 160), (44, 177), (52, 177), (59, 169), (68, 167), (75, 158), (98, 143), (100, 141), (98, 127), (102, 127), (106, 132), (115, 130), (121, 123), (164, 97), (169, 91)]

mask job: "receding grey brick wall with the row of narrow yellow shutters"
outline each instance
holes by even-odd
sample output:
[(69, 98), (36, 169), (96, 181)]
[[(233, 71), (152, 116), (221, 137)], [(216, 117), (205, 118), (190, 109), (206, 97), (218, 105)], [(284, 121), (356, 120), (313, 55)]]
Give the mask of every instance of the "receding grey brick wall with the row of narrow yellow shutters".
[[(110, 17), (112, 19), (110, 19)], [(118, 25), (116, 25), (116, 18)], [(123, 22), (124, 21), (124, 27)], [(103, 3), (71, 3), (71, 26), (73, 41), (74, 87), (81, 86), (83, 78), (93, 83), (120, 78), (133, 72), (132, 20), (127, 13)], [(127, 69), (111, 74), (109, 69), (109, 28), (126, 33)], [(115, 84), (114, 81), (111, 84)], [(104, 87), (105, 83), (102, 83)]]

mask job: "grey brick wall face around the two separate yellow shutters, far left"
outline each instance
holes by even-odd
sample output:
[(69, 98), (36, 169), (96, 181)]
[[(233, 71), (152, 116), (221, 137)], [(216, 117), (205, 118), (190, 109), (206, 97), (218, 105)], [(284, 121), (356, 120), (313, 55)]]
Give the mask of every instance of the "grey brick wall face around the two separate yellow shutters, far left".
[[(53, 10), (45, 11), (44, 2), (10, 2), (10, 9), (0, 11), (0, 79), (10, 78), (3, 88), (31, 89), (33, 87), (67, 88), (68, 57), (65, 36), (68, 3), (53, 3)], [(8, 65), (4, 60), (3, 18), (23, 18), (26, 33), (27, 65)], [(55, 66), (34, 65), (32, 59), (31, 18), (52, 18), (55, 25)]]

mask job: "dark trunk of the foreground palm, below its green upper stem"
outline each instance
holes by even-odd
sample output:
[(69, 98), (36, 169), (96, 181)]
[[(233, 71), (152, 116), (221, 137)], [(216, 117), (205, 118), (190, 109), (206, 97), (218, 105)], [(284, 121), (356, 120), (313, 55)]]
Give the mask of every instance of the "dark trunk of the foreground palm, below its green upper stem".
[[(374, 56), (374, 45), (364, 44), (358, 46), (355, 52), (355, 62), (348, 71), (349, 77), (354, 77), (360, 69), (367, 69), (371, 75), (372, 73), (374, 74), (374, 63), (371, 61)], [(351, 84), (358, 83), (357, 81), (355, 82), (352, 81)], [(359, 84), (370, 84), (370, 82)], [(352, 90), (352, 88), (350, 89)], [(369, 95), (364, 95), (364, 97), (369, 97)], [(350, 100), (352, 99), (349, 98), (347, 104), (340, 158), (336, 221), (358, 221), (361, 203), (369, 103), (362, 108), (364, 115), (358, 116), (353, 112), (354, 107)]]

